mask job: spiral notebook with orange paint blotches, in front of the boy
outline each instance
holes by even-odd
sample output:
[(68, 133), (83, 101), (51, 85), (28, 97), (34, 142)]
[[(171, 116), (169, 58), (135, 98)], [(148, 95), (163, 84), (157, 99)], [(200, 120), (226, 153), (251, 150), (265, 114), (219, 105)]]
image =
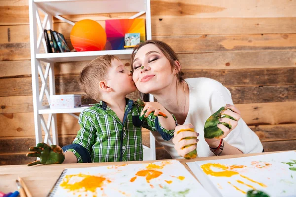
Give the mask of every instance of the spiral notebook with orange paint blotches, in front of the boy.
[(65, 169), (48, 197), (210, 197), (177, 160)]

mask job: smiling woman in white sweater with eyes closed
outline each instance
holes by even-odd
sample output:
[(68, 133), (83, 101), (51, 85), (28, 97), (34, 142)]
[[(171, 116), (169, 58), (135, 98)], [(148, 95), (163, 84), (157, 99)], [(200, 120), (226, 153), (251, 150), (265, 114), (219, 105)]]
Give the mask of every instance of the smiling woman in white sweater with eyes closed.
[[(137, 88), (142, 93), (152, 94), (177, 119), (179, 125), (172, 140), (164, 141), (159, 133), (152, 132), (172, 158), (184, 157), (196, 148), (199, 157), (262, 152), (258, 136), (240, 118), (229, 90), (209, 78), (184, 80), (177, 54), (170, 46), (156, 40), (140, 43), (134, 48), (131, 64)], [(222, 111), (222, 114), (234, 120), (220, 118), (219, 121), (231, 125), (231, 129), (217, 124), (224, 134), (219, 138), (204, 138), (206, 120), (222, 106), (230, 109)], [(195, 132), (177, 134), (190, 128)], [(185, 137), (191, 139), (183, 139)]]

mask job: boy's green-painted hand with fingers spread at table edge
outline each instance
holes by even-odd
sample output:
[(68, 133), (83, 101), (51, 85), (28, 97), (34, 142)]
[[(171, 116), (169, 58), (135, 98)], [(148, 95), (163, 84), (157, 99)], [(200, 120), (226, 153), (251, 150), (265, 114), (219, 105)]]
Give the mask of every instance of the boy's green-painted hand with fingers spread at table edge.
[(37, 164), (61, 164), (65, 160), (65, 155), (61, 147), (57, 145), (48, 146), (45, 143), (38, 143), (37, 146), (30, 147), (29, 151), (35, 151), (27, 153), (27, 157), (39, 157), (40, 160), (27, 164), (28, 166)]

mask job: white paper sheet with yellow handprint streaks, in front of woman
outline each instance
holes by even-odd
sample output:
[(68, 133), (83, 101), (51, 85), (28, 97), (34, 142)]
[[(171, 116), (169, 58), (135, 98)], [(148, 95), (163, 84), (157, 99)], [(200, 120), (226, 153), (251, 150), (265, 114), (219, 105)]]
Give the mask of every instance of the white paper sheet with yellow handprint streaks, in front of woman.
[(271, 197), (296, 196), (296, 152), (188, 162), (214, 197), (246, 197), (252, 189)]

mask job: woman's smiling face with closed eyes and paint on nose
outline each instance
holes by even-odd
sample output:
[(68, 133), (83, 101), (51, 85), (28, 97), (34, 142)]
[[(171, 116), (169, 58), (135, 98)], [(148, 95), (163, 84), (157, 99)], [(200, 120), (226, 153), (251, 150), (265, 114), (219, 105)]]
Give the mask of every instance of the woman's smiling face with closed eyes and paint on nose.
[(172, 84), (174, 75), (169, 60), (154, 44), (142, 46), (134, 57), (133, 80), (143, 93), (155, 93)]

